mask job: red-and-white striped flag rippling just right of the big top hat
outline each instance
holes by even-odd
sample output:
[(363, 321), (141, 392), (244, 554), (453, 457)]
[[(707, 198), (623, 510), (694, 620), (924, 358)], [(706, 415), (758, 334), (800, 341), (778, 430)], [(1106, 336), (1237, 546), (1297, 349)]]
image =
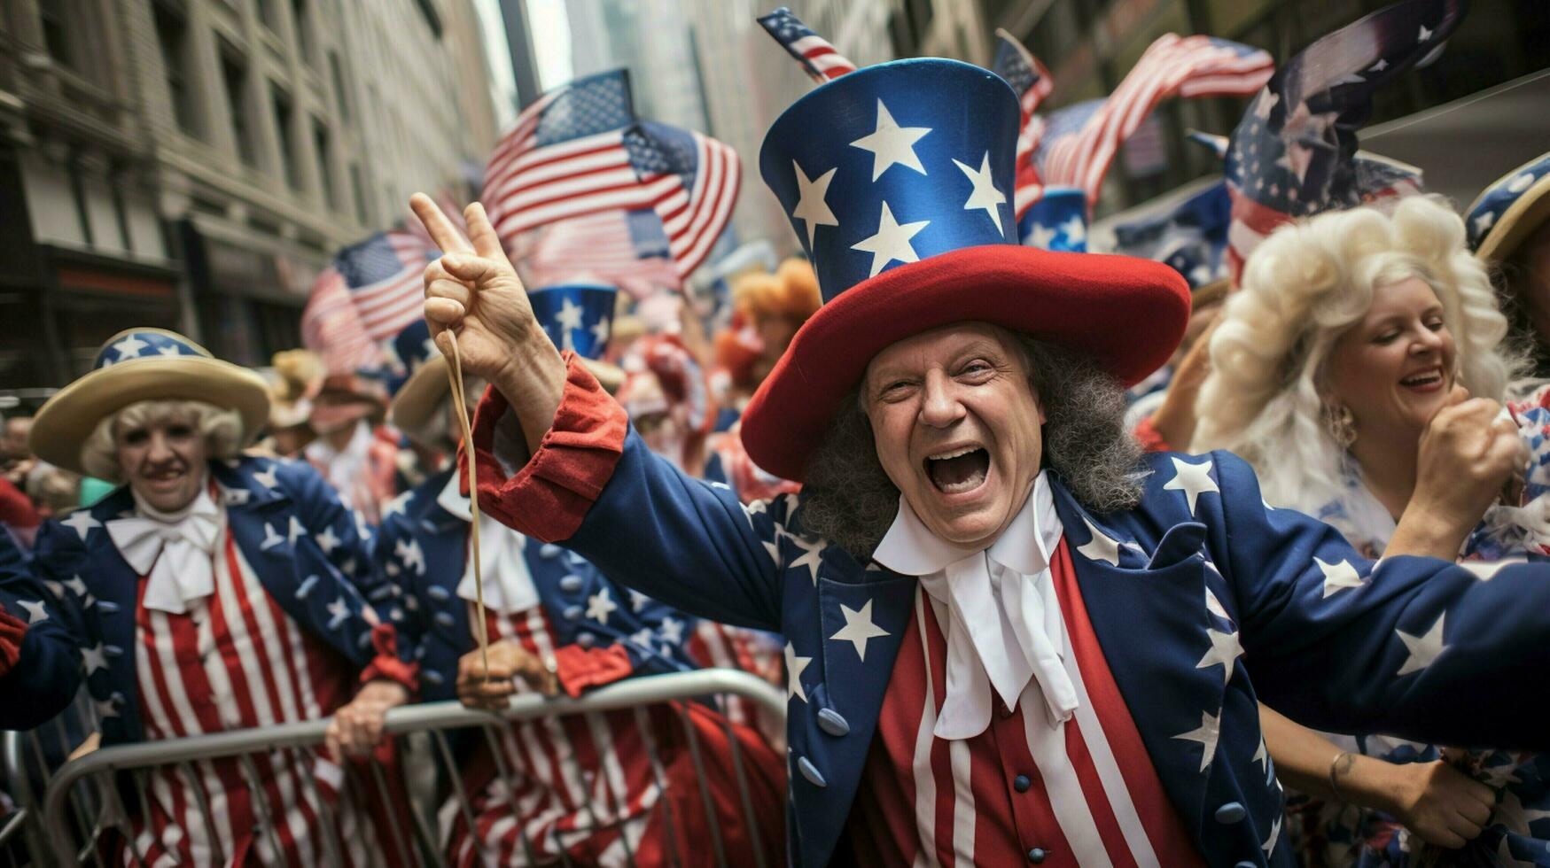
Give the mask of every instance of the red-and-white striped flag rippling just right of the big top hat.
[(1045, 186), (1080, 188), (1091, 206), (1119, 146), (1158, 102), (1249, 95), (1273, 71), (1274, 60), (1259, 48), (1214, 36), (1162, 34), (1107, 99), (1071, 105), (1046, 119), (1034, 143), (1034, 169)]

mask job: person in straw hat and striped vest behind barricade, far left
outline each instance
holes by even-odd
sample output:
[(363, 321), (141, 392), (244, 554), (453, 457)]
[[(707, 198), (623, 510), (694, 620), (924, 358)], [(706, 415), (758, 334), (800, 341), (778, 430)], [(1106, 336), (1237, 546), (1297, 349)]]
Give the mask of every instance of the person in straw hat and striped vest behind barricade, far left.
[[(305, 463), (240, 453), (268, 414), (259, 375), (160, 329), (110, 338), (43, 405), (34, 451), (122, 485), (50, 521), (31, 574), (3, 580), (6, 609), (28, 622), (0, 639), (5, 725), (48, 721), (82, 682), (104, 744), (316, 719), (412, 690), (409, 649), (355, 584), (369, 577), (367, 527)], [(338, 753), (375, 738), (347, 716), (329, 741)], [(236, 758), (195, 764), (197, 786), (153, 772), (116, 859), (364, 860), (367, 814), (339, 801), (324, 752), (253, 761), (254, 781)]]

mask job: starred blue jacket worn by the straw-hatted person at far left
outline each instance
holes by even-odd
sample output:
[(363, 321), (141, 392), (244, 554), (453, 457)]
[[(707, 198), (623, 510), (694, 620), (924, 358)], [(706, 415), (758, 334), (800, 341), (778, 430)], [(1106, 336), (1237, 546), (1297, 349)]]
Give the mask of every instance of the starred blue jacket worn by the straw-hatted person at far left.
[[(375, 617), (367, 615), (360, 591), (370, 587), (370, 529), (305, 463), (242, 457), (209, 468), (228, 532), (281, 609), (363, 670), (405, 677), (412, 648), (391, 634), (374, 642)], [(64, 521), (46, 522), (31, 569), (0, 577), (6, 611), (36, 612), (17, 665), (0, 679), (0, 725), (42, 724), (76, 696), (84, 679), (104, 742), (141, 739), (135, 688), (140, 577), (104, 529), (133, 507), (129, 488), (119, 488)]]

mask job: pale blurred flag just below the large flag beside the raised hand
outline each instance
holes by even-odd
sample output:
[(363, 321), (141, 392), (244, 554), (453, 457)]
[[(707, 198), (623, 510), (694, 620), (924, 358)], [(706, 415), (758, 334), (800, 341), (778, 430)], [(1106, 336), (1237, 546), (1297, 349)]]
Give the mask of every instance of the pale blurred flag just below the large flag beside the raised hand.
[(600, 282), (642, 299), (682, 285), (654, 211), (600, 211), (550, 223), (519, 237), (513, 259), (532, 288)]

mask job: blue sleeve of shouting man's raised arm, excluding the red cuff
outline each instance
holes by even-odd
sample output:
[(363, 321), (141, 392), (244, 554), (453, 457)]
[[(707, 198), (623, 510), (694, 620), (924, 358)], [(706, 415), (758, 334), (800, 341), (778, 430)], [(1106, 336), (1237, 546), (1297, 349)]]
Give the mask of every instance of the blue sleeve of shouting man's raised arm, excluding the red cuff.
[(564, 541), (604, 575), (711, 620), (780, 629), (780, 558), (795, 498), (744, 508), (691, 479), (634, 428), (603, 493)]

